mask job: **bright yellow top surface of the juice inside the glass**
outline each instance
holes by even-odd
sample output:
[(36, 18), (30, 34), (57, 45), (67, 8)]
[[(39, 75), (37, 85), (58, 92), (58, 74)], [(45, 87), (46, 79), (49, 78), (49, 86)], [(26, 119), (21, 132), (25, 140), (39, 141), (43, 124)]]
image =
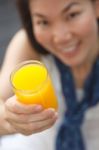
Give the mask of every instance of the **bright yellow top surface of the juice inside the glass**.
[(17, 70), (13, 77), (13, 85), (19, 90), (37, 90), (46, 80), (47, 71), (43, 66), (26, 65)]

